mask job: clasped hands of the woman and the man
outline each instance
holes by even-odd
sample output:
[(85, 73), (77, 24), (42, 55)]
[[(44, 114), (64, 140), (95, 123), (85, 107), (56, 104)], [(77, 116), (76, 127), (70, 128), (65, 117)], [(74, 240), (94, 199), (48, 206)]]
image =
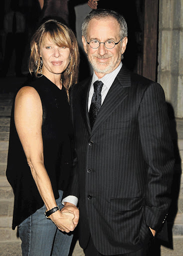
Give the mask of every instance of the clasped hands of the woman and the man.
[(61, 231), (70, 232), (75, 229), (79, 221), (79, 209), (70, 202), (65, 202), (61, 210), (50, 215), (51, 220)]

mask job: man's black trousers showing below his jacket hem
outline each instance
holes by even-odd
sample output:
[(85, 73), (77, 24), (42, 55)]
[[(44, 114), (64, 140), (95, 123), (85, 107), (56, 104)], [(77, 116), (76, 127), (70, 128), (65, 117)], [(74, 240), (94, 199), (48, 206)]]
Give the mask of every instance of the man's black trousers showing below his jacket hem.
[[(149, 247), (150, 246), (147, 245), (147, 246), (145, 246), (145, 247), (143, 247), (140, 250), (135, 251), (135, 252), (125, 253), (125, 254), (118, 254), (118, 255), (111, 255), (111, 256), (148, 256), (149, 255), (149, 253), (148, 253)], [(86, 249), (84, 249), (84, 253), (85, 253), (85, 256), (104, 256), (103, 254), (98, 252), (98, 250), (95, 248), (91, 235), (90, 235), (88, 245), (87, 245)]]

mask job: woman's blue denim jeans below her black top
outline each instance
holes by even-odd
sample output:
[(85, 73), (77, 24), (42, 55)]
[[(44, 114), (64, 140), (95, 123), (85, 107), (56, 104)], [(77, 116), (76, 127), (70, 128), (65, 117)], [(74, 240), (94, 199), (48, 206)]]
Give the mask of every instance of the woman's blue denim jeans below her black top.
[[(60, 209), (63, 207), (62, 194), (63, 191), (59, 190), (56, 200)], [(60, 231), (50, 219), (46, 219), (45, 210), (44, 205), (19, 224), (22, 256), (68, 255), (73, 234)]]

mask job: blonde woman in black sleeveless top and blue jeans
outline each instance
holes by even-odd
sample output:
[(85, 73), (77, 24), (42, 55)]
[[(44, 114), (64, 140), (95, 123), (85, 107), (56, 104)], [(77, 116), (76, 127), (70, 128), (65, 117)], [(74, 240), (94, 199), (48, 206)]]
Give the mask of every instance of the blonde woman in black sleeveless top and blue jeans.
[(31, 40), (35, 79), (18, 90), (12, 106), (6, 170), (22, 255), (68, 255), (67, 233), (78, 222), (78, 211), (61, 204), (72, 167), (68, 91), (77, 82), (78, 64), (72, 30), (54, 19), (41, 24)]

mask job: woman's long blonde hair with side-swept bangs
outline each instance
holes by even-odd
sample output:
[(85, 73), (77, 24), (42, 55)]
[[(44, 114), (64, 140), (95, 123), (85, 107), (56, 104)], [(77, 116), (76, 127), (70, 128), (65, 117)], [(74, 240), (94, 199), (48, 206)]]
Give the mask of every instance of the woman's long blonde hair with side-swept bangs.
[(29, 71), (30, 73), (35, 72), (35, 75), (39, 76), (38, 73), (41, 63), (40, 47), (44, 43), (46, 36), (49, 36), (57, 46), (65, 46), (70, 49), (70, 62), (66, 70), (62, 73), (62, 83), (67, 95), (69, 95), (69, 88), (78, 81), (79, 49), (73, 31), (63, 23), (55, 19), (49, 19), (37, 28), (30, 42)]

